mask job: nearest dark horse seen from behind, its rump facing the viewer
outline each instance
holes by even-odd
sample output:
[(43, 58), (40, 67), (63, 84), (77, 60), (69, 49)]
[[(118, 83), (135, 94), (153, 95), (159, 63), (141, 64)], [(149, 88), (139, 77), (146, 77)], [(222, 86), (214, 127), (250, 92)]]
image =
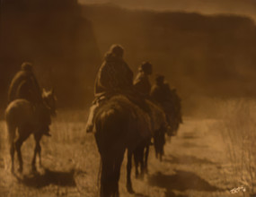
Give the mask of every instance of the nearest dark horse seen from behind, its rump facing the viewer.
[[(152, 105), (149, 105), (153, 107)], [(101, 189), (102, 197), (119, 196), (120, 167), (125, 151), (128, 150), (127, 190), (134, 193), (131, 179), (131, 153), (146, 139), (153, 136), (165, 118), (156, 113), (154, 121), (143, 109), (127, 97), (113, 96), (102, 103), (95, 114), (95, 140), (101, 155)]]

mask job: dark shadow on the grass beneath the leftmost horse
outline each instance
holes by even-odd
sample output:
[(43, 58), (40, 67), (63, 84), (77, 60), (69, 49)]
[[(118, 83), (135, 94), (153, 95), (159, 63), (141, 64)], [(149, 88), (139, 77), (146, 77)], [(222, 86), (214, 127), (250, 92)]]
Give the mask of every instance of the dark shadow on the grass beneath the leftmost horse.
[(30, 187), (44, 187), (48, 186), (49, 184), (55, 184), (59, 186), (70, 186), (75, 187), (75, 170), (72, 169), (69, 172), (63, 171), (52, 171), (45, 168), (45, 173), (43, 175), (40, 174), (33, 174), (31, 176), (23, 176), (17, 179), (22, 183)]

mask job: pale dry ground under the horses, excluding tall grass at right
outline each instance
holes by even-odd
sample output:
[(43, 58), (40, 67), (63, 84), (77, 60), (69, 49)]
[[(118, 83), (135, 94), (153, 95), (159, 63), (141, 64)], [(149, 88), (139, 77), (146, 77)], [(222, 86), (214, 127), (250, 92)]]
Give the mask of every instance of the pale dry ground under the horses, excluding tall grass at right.
[[(60, 111), (51, 125), (52, 137), (41, 141), (42, 167), (31, 174), (34, 141), (22, 145), (24, 170), (11, 174), (10, 156), (4, 120), (0, 123), (0, 196), (99, 196), (100, 155), (93, 133), (85, 133), (86, 112)], [(225, 151), (220, 119), (184, 117), (177, 136), (166, 138), (163, 161), (154, 157), (150, 147), (149, 172), (144, 180), (132, 182), (136, 193), (126, 191), (125, 157), (119, 180), (120, 196), (141, 197), (221, 197), (249, 196), (246, 192), (230, 193), (238, 185), (234, 181), (232, 162)]]

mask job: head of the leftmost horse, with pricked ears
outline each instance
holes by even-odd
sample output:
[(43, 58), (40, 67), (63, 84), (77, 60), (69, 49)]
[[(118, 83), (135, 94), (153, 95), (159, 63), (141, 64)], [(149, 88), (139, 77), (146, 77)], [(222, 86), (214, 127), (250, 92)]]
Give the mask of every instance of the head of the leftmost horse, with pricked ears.
[(42, 99), (46, 107), (49, 108), (49, 112), (52, 116), (56, 116), (56, 102), (57, 98), (55, 95), (55, 90), (45, 90), (42, 91)]

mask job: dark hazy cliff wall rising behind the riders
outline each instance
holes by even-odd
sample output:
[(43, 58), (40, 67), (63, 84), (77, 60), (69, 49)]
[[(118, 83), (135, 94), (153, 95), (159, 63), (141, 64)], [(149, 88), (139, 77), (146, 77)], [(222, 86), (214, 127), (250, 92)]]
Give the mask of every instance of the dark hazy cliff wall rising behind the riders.
[(184, 113), (191, 97), (256, 95), (255, 22), (246, 14), (225, 14), (233, 6), (253, 9), (253, 1), (216, 2), (226, 11), (214, 15), (129, 10), (123, 8), (125, 1), (123, 6), (38, 2), (2, 1), (2, 106), (13, 74), (27, 60), (35, 64), (41, 86), (57, 87), (60, 107), (88, 107), (97, 69), (113, 43), (125, 48), (125, 60), (135, 73), (143, 61), (152, 62), (155, 74), (165, 73), (181, 94)]

